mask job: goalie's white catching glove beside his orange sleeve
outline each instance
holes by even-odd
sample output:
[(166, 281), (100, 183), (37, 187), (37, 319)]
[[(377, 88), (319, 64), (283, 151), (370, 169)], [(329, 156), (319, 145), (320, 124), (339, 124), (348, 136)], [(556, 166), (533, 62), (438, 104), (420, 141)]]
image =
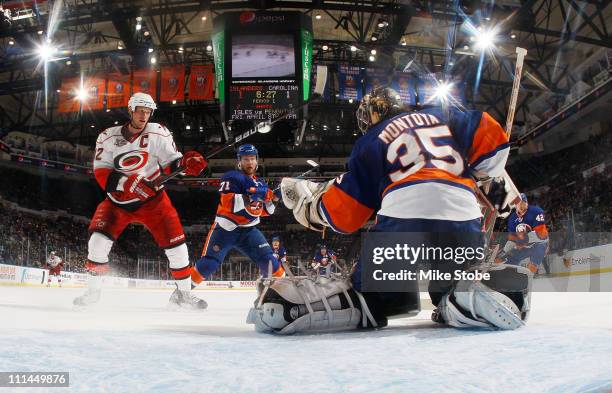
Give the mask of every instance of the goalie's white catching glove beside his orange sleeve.
[(329, 223), (319, 210), (323, 194), (332, 186), (334, 180), (315, 183), (309, 180), (285, 177), (281, 181), (283, 203), (293, 211), (293, 216), (303, 226), (322, 232)]

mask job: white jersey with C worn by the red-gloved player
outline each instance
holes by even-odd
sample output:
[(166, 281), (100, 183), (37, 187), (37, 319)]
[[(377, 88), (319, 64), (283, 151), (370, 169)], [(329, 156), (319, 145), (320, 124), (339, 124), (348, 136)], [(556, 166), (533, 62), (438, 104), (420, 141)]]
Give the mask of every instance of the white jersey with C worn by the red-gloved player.
[(94, 174), (114, 204), (124, 208), (138, 207), (137, 198), (122, 198), (127, 176), (141, 174), (152, 181), (164, 168), (182, 157), (172, 133), (158, 123), (148, 123), (139, 134), (127, 136), (126, 126), (104, 130), (96, 141)]

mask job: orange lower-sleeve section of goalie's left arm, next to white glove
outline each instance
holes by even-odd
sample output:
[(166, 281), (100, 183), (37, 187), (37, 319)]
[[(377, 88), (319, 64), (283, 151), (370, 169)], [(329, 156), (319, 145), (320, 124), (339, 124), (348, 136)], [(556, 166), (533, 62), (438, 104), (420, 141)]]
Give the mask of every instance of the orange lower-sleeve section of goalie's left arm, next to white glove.
[(323, 209), (332, 221), (330, 224), (345, 233), (361, 228), (374, 211), (335, 184), (323, 194), (322, 201)]

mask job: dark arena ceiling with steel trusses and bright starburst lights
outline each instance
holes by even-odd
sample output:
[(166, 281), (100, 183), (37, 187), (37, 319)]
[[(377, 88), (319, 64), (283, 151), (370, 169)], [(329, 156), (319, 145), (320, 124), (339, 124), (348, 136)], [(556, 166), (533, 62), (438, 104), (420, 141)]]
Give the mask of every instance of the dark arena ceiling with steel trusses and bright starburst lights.
[[(0, 3), (13, 12), (10, 19), (6, 14), (0, 28), (0, 127), (80, 144), (93, 144), (101, 128), (121, 121), (125, 114), (58, 114), (56, 89), (62, 77), (211, 63), (207, 46), (212, 19), (227, 11), (304, 12), (312, 16), (315, 64), (417, 67), (459, 77), (468, 86), (468, 107), (489, 111), (501, 122), (512, 87), (515, 48), (524, 47), (528, 55), (518, 124), (528, 118), (532, 100), (543, 94), (568, 94), (581, 77), (575, 69), (601, 48), (612, 47), (608, 31), (612, 7), (605, 0), (39, 0), (39, 12), (31, 13), (27, 12), (31, 6), (14, 8), (31, 1)], [(20, 12), (17, 18), (16, 12)], [(483, 33), (479, 27), (496, 31), (495, 51), (484, 57), (480, 67), (473, 38)], [(62, 51), (61, 60), (46, 63), (46, 78), (36, 52), (45, 37)], [(368, 59), (372, 49), (377, 51), (375, 62)], [(150, 63), (153, 56), (155, 65)], [(312, 104), (300, 146), (292, 143), (296, 126), (292, 123), (280, 124), (254, 140), (268, 156), (346, 156), (357, 138), (355, 109), (356, 103), (334, 97), (324, 105)], [(226, 142), (214, 102), (162, 105), (158, 116), (183, 145), (207, 151)]]

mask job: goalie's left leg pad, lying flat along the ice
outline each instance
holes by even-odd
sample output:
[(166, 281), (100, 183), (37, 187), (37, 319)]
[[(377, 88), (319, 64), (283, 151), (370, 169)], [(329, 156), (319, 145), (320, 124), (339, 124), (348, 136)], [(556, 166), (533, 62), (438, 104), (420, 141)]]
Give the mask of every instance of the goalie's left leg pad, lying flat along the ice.
[(247, 317), (247, 323), (259, 332), (315, 333), (377, 326), (363, 296), (337, 278), (275, 279), (262, 291), (259, 303)]

